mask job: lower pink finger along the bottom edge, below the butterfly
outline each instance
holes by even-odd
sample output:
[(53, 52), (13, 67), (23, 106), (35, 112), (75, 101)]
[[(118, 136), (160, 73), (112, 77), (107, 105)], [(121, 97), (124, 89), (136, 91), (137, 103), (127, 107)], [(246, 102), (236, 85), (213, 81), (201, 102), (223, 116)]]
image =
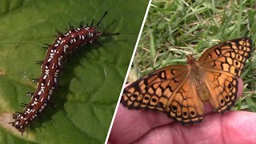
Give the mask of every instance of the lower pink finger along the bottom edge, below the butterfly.
[(251, 112), (214, 113), (194, 126), (160, 126), (134, 143), (254, 143), (255, 122), (256, 114)]

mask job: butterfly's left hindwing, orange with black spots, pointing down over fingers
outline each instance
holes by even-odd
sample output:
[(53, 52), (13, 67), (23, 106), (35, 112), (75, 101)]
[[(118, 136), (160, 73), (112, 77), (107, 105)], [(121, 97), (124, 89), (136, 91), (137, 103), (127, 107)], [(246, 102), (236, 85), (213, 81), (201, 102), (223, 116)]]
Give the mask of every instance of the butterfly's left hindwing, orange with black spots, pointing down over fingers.
[(182, 125), (191, 125), (202, 121), (204, 105), (191, 78), (186, 78), (186, 81), (174, 91), (165, 112)]

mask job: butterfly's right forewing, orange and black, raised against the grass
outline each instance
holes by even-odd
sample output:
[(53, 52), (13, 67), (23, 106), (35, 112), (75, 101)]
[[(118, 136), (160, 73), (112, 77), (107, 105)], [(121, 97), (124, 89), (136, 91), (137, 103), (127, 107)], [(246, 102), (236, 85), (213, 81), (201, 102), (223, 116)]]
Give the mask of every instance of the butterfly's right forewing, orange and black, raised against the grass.
[(250, 51), (250, 38), (233, 39), (206, 50), (198, 62), (206, 71), (240, 77)]

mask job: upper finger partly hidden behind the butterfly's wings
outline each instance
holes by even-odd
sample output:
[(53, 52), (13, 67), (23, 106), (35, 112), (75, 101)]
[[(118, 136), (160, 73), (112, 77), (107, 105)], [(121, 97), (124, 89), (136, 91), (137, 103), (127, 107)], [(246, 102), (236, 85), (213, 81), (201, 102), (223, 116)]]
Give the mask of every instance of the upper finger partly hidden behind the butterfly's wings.
[[(238, 96), (242, 95), (243, 82), (238, 79)], [(206, 114), (212, 111), (210, 105), (205, 106)], [(126, 107), (118, 106), (114, 125), (110, 133), (112, 143), (130, 143), (141, 138), (146, 132), (155, 127), (173, 122), (166, 114), (146, 110), (128, 110)]]

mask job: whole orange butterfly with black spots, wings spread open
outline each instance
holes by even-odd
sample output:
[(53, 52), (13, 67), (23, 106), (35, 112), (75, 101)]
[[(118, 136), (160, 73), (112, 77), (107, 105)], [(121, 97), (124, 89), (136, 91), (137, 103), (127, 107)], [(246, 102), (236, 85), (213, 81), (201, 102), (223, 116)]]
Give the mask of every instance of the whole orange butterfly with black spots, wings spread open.
[(188, 54), (186, 66), (166, 66), (131, 83), (121, 103), (164, 112), (182, 125), (202, 122), (205, 102), (224, 114), (236, 101), (251, 45), (250, 38), (238, 38), (210, 47), (198, 61)]

